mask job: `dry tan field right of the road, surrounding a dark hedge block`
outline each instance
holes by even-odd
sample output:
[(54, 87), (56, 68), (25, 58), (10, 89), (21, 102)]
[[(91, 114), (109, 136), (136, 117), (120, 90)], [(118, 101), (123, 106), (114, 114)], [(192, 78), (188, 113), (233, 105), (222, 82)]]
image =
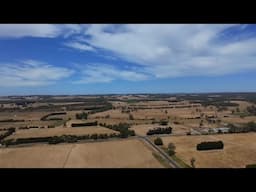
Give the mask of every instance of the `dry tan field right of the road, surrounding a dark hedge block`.
[[(256, 133), (170, 136), (162, 137), (164, 146), (172, 142), (176, 146), (176, 156), (190, 165), (195, 158), (197, 168), (242, 168), (256, 163)], [(197, 151), (196, 145), (203, 141), (224, 142), (223, 150)]]

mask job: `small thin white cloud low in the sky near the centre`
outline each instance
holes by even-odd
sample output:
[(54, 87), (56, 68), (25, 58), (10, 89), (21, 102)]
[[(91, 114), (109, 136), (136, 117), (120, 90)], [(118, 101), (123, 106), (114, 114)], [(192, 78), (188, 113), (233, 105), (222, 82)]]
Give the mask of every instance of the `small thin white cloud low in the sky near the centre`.
[(81, 79), (74, 83), (107, 83), (113, 80), (142, 81), (148, 79), (144, 73), (118, 69), (108, 64), (87, 64), (81, 69)]

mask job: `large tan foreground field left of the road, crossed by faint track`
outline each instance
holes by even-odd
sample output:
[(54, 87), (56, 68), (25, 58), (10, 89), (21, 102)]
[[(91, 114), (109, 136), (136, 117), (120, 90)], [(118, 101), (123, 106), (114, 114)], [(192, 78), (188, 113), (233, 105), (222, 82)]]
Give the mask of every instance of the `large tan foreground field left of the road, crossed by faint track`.
[(0, 149), (4, 168), (162, 168), (136, 139)]

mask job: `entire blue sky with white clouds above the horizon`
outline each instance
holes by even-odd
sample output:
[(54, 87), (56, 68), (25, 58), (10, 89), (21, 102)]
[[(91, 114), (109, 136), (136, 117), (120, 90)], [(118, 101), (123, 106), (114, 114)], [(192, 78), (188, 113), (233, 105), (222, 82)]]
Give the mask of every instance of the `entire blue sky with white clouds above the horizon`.
[(256, 91), (256, 25), (0, 24), (0, 95)]

